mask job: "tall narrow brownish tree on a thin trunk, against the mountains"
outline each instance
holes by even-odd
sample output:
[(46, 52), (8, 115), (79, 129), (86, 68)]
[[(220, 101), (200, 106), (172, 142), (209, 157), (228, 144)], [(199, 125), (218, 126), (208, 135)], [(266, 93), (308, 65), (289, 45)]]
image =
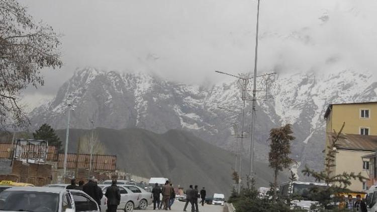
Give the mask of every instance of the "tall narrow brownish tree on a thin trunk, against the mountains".
[(270, 152), (268, 153), (269, 167), (274, 171), (273, 196), (276, 198), (277, 175), (284, 168), (290, 167), (295, 161), (289, 157), (291, 154), (292, 126), (287, 124), (280, 128), (271, 129), (268, 140)]

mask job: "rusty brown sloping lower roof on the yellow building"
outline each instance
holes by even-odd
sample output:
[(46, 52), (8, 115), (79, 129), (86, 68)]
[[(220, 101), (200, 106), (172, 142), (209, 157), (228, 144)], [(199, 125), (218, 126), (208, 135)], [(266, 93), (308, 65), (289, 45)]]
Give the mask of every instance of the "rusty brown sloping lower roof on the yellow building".
[[(329, 141), (336, 136), (335, 133), (327, 133)], [(364, 136), (356, 134), (341, 134), (337, 142), (337, 149), (358, 150), (358, 151), (376, 151), (377, 136)]]

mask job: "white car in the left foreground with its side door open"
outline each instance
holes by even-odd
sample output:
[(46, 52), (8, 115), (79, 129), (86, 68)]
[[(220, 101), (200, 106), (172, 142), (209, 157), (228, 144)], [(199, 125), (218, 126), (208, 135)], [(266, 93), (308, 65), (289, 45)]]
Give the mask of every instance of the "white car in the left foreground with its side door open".
[(58, 187), (13, 187), (0, 193), (1, 211), (100, 212), (97, 202), (80, 190)]

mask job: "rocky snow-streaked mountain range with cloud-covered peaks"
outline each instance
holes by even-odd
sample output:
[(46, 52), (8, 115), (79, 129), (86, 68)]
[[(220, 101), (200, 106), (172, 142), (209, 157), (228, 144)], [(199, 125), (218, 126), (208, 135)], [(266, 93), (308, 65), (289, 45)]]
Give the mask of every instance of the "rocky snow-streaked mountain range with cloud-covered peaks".
[[(240, 90), (235, 81), (215, 85), (187, 85), (147, 74), (121, 74), (95, 68), (76, 71), (51, 101), (34, 109), (34, 128), (42, 123), (66, 128), (68, 94), (74, 105), (71, 128), (143, 128), (157, 133), (183, 129), (225, 149), (234, 150), (233, 123), (239, 123)], [(258, 84), (262, 87), (262, 83)], [(305, 164), (321, 168), (325, 145), (324, 111), (329, 103), (377, 100), (372, 74), (350, 70), (317, 76), (314, 73), (279, 74), (269, 88), (272, 98), (257, 101), (256, 153), (265, 160), (269, 130), (291, 123), (296, 140), (292, 155)], [(250, 111), (251, 101), (246, 102)], [(219, 109), (230, 109), (233, 112)], [(246, 114), (246, 128), (250, 115)], [(249, 152), (249, 139), (244, 152)]]

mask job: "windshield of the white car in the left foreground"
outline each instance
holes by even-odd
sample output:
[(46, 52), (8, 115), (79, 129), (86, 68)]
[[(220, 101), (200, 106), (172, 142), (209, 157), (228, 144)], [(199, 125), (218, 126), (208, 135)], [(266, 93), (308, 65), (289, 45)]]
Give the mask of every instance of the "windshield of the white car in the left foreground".
[(0, 210), (57, 212), (58, 209), (58, 193), (9, 190), (0, 193)]

